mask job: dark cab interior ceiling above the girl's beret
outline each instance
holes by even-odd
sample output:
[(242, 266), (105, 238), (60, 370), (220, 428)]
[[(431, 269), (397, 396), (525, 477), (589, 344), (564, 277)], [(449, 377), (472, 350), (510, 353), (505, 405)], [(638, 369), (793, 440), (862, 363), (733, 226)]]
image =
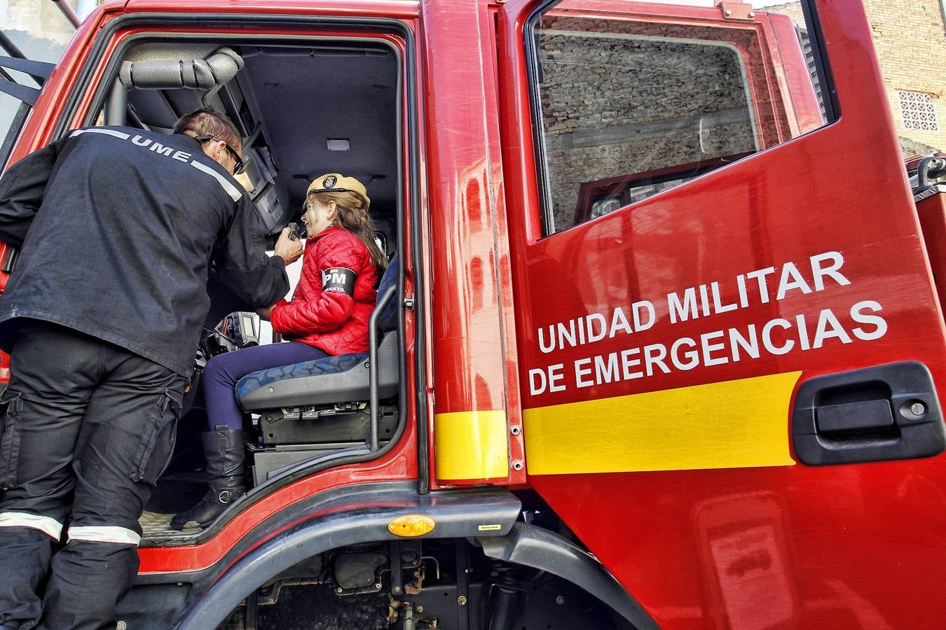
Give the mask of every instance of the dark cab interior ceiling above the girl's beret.
[[(222, 45), (145, 43), (124, 59), (204, 59)], [(180, 115), (209, 105), (230, 116), (244, 143), (252, 141), (254, 160), (269, 155), (287, 213), (282, 225), (299, 217), (308, 183), (324, 173), (359, 179), (373, 218), (390, 221), (398, 163), (394, 51), (365, 42), (226, 45), (244, 62), (236, 77), (209, 91), (131, 89), (129, 124), (167, 132)]]

